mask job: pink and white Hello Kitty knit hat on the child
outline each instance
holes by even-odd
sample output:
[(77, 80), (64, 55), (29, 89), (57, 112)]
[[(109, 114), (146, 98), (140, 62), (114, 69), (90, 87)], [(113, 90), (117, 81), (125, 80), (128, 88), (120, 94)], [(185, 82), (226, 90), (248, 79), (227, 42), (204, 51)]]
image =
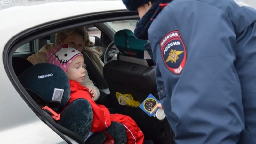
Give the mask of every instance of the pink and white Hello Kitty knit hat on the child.
[(66, 72), (72, 60), (79, 55), (83, 56), (77, 49), (64, 44), (57, 45), (52, 50), (49, 50), (46, 58), (48, 63), (57, 65)]

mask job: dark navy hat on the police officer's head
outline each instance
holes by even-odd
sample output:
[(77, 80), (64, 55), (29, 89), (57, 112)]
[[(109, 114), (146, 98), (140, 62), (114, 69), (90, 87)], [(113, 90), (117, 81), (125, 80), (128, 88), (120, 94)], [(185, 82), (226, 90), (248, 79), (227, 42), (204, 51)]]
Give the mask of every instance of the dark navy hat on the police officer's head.
[(122, 0), (127, 10), (129, 11), (137, 11), (137, 9), (147, 2), (154, 2), (157, 0)]

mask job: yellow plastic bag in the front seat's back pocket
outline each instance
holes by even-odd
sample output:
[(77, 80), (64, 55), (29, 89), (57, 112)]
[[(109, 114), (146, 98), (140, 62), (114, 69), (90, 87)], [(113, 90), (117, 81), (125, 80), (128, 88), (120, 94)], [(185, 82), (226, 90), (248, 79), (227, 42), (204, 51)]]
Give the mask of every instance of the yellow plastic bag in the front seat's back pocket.
[(118, 100), (120, 105), (128, 105), (132, 107), (140, 106), (140, 102), (133, 100), (133, 97), (130, 94), (121, 94), (119, 92), (116, 92), (116, 99)]

